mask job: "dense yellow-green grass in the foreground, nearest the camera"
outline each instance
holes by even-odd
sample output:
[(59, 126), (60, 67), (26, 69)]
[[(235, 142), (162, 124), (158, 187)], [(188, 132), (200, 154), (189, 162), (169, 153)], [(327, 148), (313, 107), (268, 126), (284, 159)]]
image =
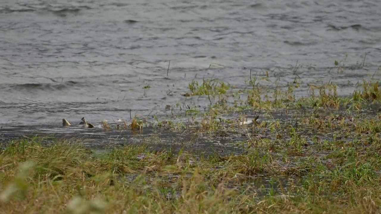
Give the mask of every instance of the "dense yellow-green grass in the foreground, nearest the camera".
[[(12, 141), (0, 154), (1, 213), (375, 213), (381, 202), (379, 142), (330, 148), (333, 163), (310, 154), (287, 165), (265, 144), (204, 157), (41, 140)], [(251, 184), (260, 174), (279, 185)]]

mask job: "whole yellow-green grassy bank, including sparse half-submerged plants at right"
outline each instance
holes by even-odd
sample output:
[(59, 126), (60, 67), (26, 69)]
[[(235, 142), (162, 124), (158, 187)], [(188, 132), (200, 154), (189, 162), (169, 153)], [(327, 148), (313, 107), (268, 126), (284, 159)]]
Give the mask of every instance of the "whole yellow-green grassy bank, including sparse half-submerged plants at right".
[[(49, 144), (44, 137), (7, 141), (0, 154), (2, 210), (370, 213), (379, 209), (377, 81), (364, 81), (345, 97), (337, 95), (333, 84), (311, 85), (311, 96), (298, 99), (292, 94), (295, 85), (269, 94), (253, 84), (229, 96), (223, 83), (193, 86), (197, 87), (186, 96), (209, 97), (210, 105), (204, 111), (189, 106), (187, 120), (168, 107), (173, 117), (165, 120), (148, 122), (132, 116), (129, 123), (99, 124), (104, 132), (155, 129), (193, 136), (184, 137), (176, 149), (152, 146), (171, 145), (155, 134), (107, 150), (69, 137), (50, 139)], [(247, 99), (226, 102), (226, 97), (239, 94)], [(215, 141), (214, 147), (192, 150), (192, 142), (200, 139)], [(215, 149), (227, 145), (237, 150)]]

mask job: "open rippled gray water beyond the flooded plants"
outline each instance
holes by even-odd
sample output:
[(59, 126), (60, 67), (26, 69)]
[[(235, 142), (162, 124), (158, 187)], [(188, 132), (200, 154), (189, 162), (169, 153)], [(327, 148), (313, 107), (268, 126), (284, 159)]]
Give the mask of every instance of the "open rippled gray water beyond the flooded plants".
[[(296, 62), (304, 83), (330, 80), (349, 94), (348, 83), (379, 77), (380, 11), (377, 0), (2, 0), (0, 125), (28, 131), (60, 127), (62, 118), (202, 108), (206, 98), (181, 95), (193, 79), (240, 89), (250, 87), (250, 69), (274, 70), (287, 85)], [(344, 59), (344, 72), (333, 72)]]

